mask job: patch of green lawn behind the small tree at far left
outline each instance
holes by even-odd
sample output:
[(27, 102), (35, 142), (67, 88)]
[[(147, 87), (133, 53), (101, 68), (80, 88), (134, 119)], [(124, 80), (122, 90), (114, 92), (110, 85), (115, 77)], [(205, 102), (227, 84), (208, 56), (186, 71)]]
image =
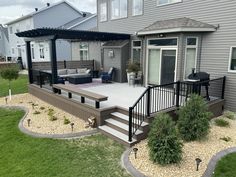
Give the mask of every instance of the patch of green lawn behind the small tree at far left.
[[(12, 95), (27, 93), (28, 92), (28, 76), (20, 75), (17, 80), (11, 82)], [(8, 80), (4, 80), (0, 77), (0, 97), (8, 95)]]

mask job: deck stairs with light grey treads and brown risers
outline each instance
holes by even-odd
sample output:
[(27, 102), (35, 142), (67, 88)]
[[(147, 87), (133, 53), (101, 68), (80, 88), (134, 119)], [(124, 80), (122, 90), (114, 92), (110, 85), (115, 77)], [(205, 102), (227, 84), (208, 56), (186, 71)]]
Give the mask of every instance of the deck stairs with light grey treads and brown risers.
[(129, 116), (127, 114), (125, 111), (111, 113), (109, 118), (105, 120), (105, 124), (99, 126), (99, 129), (103, 134), (130, 147), (146, 138), (149, 123), (143, 122), (141, 127), (136, 131), (132, 142), (129, 142)]

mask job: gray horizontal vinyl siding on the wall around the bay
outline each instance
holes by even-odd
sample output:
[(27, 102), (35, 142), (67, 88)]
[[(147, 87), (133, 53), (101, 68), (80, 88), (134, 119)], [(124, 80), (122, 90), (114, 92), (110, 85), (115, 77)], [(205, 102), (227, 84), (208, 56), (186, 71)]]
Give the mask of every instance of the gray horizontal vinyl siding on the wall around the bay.
[[(98, 0), (98, 7), (100, 7), (101, 1), (104, 0)], [(135, 17), (132, 16), (131, 1), (128, 2), (128, 18), (110, 20), (109, 1), (108, 21), (98, 23), (99, 31), (135, 34), (135, 32), (155, 21), (182, 17), (192, 18), (215, 26), (219, 25), (216, 32), (202, 33), (202, 46), (201, 51), (199, 51), (198, 64), (201, 71), (210, 73), (211, 78), (227, 77), (226, 108), (236, 111), (236, 73), (228, 72), (230, 47), (236, 46), (236, 1), (183, 0), (182, 3), (158, 7), (156, 6), (156, 0), (144, 0), (144, 14)], [(98, 19), (100, 19), (99, 8)], [(146, 49), (144, 50), (146, 51)], [(184, 50), (183, 47), (182, 52)], [(182, 59), (182, 62), (184, 62), (184, 59)], [(183, 63), (180, 66), (184, 66)], [(178, 68), (178, 70), (181, 70), (181, 68)]]

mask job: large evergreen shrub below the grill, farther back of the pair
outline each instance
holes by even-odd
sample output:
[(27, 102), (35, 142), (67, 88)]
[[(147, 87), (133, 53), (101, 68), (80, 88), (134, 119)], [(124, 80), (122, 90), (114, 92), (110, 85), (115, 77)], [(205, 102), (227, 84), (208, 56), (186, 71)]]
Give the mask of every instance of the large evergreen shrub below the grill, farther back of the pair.
[(199, 140), (208, 135), (211, 113), (199, 95), (191, 95), (186, 105), (179, 110), (178, 131), (185, 141)]

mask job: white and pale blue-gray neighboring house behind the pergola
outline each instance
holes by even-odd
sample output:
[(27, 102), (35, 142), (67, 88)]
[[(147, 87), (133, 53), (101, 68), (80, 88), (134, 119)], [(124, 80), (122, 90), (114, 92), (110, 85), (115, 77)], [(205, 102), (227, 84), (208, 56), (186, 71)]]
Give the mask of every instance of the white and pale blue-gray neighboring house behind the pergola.
[[(8, 22), (10, 56), (13, 59), (22, 57), (23, 65), (27, 67), (25, 41), (15, 35), (17, 32), (36, 28), (66, 28), (76, 30), (96, 30), (97, 16), (77, 10), (67, 1), (60, 1)], [(58, 60), (71, 60), (71, 43), (65, 40), (57, 41)], [(50, 51), (48, 41), (31, 44), (33, 61), (49, 61)], [(79, 49), (78, 49), (79, 50)]]

